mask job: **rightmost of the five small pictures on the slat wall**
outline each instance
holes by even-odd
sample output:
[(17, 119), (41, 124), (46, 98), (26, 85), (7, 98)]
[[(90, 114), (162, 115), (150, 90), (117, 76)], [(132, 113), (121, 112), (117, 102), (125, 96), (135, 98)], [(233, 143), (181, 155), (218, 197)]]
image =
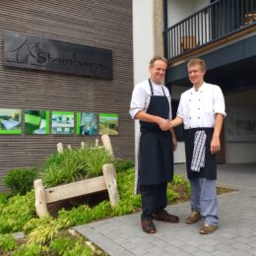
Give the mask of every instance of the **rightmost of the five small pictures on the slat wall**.
[(118, 135), (118, 114), (99, 113), (99, 134)]

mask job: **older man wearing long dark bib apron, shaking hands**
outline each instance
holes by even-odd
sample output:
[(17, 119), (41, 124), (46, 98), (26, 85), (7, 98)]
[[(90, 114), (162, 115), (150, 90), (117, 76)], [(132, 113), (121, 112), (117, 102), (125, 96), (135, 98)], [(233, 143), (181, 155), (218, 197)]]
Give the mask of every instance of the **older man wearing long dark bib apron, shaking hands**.
[(171, 119), (170, 95), (161, 80), (164, 78), (167, 61), (155, 56), (150, 62), (150, 79), (138, 84), (131, 100), (130, 114), (140, 120), (138, 147), (138, 173), (136, 192), (142, 196), (142, 228), (155, 233), (153, 220), (178, 223), (176, 216), (168, 214), (167, 182), (173, 178), (173, 149), (177, 142)]

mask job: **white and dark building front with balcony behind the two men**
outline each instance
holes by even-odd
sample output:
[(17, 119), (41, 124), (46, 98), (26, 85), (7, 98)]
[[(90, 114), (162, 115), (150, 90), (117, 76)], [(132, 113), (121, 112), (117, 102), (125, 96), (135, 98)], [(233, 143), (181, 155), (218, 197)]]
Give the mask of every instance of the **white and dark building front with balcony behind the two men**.
[[(218, 160), (256, 162), (256, 1), (142, 0), (133, 5), (137, 21), (134, 59), (140, 63), (135, 61), (135, 82), (147, 78), (152, 55), (164, 55), (170, 64), (165, 85), (171, 92), (175, 114), (180, 95), (191, 87), (186, 62), (194, 57), (205, 59), (206, 81), (222, 88), (226, 103)], [(142, 74), (143, 79), (139, 79)], [(179, 129), (177, 134), (174, 160), (185, 162), (182, 131)]]

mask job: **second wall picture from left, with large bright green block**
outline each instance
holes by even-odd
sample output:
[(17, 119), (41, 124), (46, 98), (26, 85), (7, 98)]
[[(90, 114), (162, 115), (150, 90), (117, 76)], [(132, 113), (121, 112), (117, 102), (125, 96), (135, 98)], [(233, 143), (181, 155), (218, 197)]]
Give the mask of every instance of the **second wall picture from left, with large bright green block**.
[(25, 134), (49, 134), (48, 110), (25, 110)]

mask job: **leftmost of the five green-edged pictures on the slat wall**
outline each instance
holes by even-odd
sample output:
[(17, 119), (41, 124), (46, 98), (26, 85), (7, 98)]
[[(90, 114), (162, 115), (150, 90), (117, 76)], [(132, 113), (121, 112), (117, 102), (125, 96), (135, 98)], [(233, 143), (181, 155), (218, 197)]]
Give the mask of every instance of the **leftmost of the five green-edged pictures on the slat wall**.
[(22, 110), (0, 108), (0, 134), (22, 134)]

